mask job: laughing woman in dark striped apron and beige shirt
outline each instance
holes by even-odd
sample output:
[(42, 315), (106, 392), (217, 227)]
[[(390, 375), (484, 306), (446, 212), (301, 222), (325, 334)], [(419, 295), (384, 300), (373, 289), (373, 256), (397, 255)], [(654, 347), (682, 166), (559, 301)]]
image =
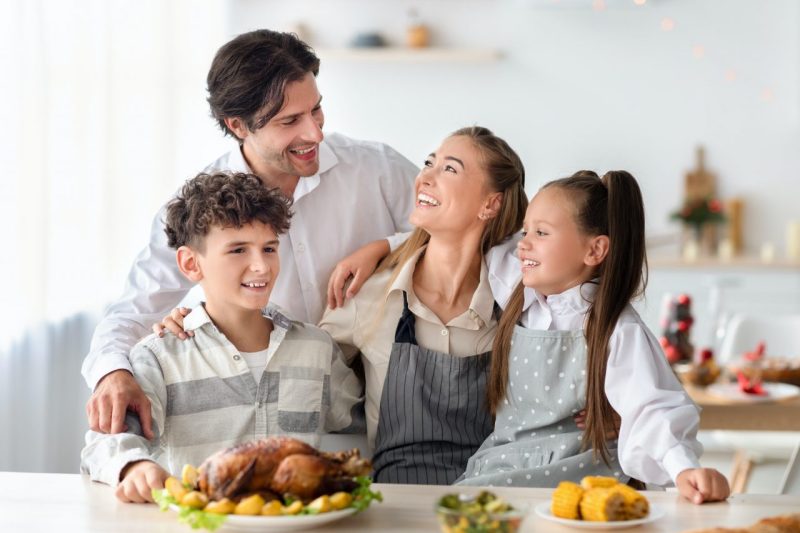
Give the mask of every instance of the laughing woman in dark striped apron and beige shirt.
[(361, 353), (378, 482), (452, 483), (492, 430), (497, 321), (483, 255), (521, 228), (524, 184), (505, 141), (454, 132), (416, 178), (417, 229), (320, 322), (347, 356)]

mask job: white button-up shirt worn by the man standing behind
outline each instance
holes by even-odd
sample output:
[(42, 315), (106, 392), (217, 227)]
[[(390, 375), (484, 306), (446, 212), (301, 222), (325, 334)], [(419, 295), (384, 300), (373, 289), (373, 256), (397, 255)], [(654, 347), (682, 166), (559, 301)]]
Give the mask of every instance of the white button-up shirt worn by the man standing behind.
[[(328, 278), (336, 264), (382, 238), (395, 248), (411, 230), (418, 168), (377, 142), (326, 135), (319, 145), (319, 172), (301, 177), (289, 231), (280, 236), (281, 271), (270, 301), (292, 319), (317, 323), (325, 310)], [(204, 172), (250, 172), (237, 146)], [(178, 270), (164, 233), (166, 205), (156, 214), (150, 242), (136, 257), (122, 297), (95, 330), (81, 370), (87, 384), (114, 370), (130, 370), (130, 349), (193, 287)]]

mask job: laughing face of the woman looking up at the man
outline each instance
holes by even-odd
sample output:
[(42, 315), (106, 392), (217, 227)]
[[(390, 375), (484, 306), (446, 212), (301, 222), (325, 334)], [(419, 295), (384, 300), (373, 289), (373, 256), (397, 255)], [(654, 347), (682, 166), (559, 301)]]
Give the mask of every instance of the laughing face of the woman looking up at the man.
[(482, 230), (501, 197), (488, 183), (474, 143), (463, 135), (448, 137), (428, 155), (417, 175), (416, 202), (409, 221), (431, 235), (458, 237), (473, 228)]

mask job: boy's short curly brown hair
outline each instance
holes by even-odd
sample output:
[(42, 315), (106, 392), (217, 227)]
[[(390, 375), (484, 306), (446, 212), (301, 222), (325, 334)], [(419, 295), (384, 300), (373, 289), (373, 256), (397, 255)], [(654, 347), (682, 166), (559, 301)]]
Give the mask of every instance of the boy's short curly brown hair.
[(270, 189), (254, 174), (198, 174), (167, 205), (164, 232), (172, 248), (204, 248), (211, 228), (241, 228), (262, 222), (280, 235), (289, 229), (291, 200)]

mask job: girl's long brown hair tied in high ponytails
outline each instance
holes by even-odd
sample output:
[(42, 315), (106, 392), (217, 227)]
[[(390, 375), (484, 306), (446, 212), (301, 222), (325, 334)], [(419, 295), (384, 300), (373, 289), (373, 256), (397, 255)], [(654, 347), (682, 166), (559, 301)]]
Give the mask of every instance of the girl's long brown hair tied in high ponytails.
[[(644, 202), (636, 179), (624, 170), (606, 173), (576, 172), (551, 181), (542, 189), (556, 187), (572, 200), (578, 229), (585, 235), (607, 235), (608, 254), (597, 267), (599, 278), (586, 317), (587, 384), (586, 431), (583, 447), (608, 463), (606, 434), (614, 429), (613, 409), (605, 394), (608, 343), (620, 314), (647, 284), (644, 245)], [(500, 319), (492, 348), (488, 403), (492, 413), (506, 396), (511, 335), (522, 314), (523, 285), (511, 295)]]

